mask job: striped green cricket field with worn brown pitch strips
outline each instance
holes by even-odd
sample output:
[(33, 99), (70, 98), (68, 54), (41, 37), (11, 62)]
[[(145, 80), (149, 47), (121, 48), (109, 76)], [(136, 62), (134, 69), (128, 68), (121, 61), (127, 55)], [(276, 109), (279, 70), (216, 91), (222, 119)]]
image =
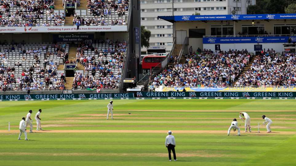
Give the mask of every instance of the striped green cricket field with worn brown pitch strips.
[[(24, 166), (213, 166), (295, 165), (294, 100), (107, 100), (0, 102), (0, 165)], [(36, 131), (34, 116), (42, 109)], [(18, 125), (33, 110), (30, 141), (17, 140)], [(239, 112), (251, 117), (244, 133)], [(128, 114), (131, 113), (131, 114)], [(273, 121), (266, 133), (262, 115)], [(238, 119), (241, 135), (228, 128)], [(8, 122), (11, 131), (8, 132)], [(168, 163), (164, 141), (172, 130), (178, 161)], [(29, 127), (27, 127), (29, 131)]]

